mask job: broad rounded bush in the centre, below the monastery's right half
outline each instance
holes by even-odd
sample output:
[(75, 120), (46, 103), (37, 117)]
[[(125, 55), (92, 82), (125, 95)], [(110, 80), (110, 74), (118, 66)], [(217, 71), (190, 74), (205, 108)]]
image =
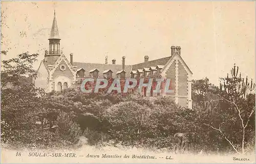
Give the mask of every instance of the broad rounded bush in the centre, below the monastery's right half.
[[(173, 101), (163, 104), (161, 102), (165, 98), (162, 101), (161, 99), (127, 97), (126, 101), (106, 109), (101, 119), (109, 123), (106, 125), (112, 138), (122, 141), (123, 145), (150, 147), (157, 138), (168, 137), (177, 129), (172, 118), (178, 107)], [(158, 147), (164, 147), (164, 144), (160, 145)], [(168, 146), (169, 144), (165, 144), (165, 147)]]

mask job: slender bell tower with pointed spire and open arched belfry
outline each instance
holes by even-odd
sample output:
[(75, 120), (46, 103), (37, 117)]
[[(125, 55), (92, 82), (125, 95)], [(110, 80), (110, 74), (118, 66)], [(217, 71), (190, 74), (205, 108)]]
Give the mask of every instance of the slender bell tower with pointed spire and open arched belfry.
[(59, 30), (57, 26), (57, 20), (54, 10), (54, 17), (52, 22), (52, 29), (49, 37), (49, 50), (45, 51), (45, 61), (49, 65), (53, 65), (55, 61), (59, 58), (59, 56), (62, 54), (60, 51), (60, 38), (59, 38)]

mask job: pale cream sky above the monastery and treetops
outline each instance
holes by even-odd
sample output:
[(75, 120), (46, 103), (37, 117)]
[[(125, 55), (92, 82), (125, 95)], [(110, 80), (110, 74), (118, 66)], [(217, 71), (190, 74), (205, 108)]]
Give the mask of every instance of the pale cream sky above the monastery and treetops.
[[(56, 10), (60, 47), (74, 61), (141, 63), (181, 56), (194, 79), (218, 84), (234, 63), (255, 79), (255, 2), (2, 2), (3, 59), (29, 51), (44, 58)], [(2, 11), (2, 12), (3, 12)], [(35, 63), (38, 68), (39, 61)]]

